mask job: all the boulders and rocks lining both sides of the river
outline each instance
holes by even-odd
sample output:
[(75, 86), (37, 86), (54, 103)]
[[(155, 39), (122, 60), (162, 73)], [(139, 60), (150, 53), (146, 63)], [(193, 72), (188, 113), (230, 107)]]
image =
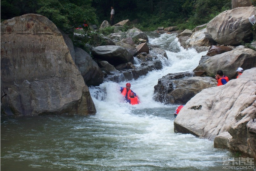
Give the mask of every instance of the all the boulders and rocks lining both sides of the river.
[[(174, 31), (184, 48), (209, 52), (194, 72), (159, 79), (154, 99), (185, 104), (174, 121), (176, 132), (209, 138), (216, 147), (256, 158), (256, 52), (238, 46), (252, 39), (248, 18), (255, 13), (255, 7), (235, 8), (216, 16), (204, 29)], [(156, 32), (174, 33), (172, 29)], [(92, 47), (91, 56), (37, 14), (2, 22), (1, 36), (1, 115), (95, 114), (88, 86), (137, 79), (161, 69), (161, 60), (167, 58), (136, 28), (105, 37), (108, 45)], [(134, 66), (135, 57), (139, 67)], [(245, 72), (234, 79), (238, 67)], [(216, 87), (212, 77), (217, 70), (231, 81)]]

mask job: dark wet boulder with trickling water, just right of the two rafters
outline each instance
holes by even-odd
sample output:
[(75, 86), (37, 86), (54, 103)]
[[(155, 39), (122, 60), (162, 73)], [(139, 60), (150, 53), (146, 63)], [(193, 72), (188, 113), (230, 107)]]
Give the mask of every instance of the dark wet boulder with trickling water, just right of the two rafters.
[(192, 72), (163, 76), (154, 87), (154, 99), (165, 104), (185, 104), (202, 89), (217, 85), (211, 77), (193, 76)]

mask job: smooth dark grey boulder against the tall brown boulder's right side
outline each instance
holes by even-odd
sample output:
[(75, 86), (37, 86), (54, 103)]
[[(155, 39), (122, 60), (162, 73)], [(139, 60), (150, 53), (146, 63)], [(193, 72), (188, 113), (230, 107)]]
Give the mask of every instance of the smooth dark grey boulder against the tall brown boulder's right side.
[(104, 74), (92, 59), (92, 57), (83, 49), (75, 47), (75, 64), (81, 72), (87, 86), (98, 86), (104, 80)]

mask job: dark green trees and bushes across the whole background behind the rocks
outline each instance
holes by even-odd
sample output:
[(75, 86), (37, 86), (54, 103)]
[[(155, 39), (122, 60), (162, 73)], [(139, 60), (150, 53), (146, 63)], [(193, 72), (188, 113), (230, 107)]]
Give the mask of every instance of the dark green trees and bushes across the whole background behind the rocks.
[[(256, 0), (252, 3), (256, 5)], [(116, 23), (125, 19), (137, 21), (122, 28), (123, 32), (133, 27), (142, 31), (169, 26), (192, 30), (230, 9), (231, 0), (2, 0), (1, 21), (26, 13), (41, 14), (66, 33), (81, 32), (74, 28), (82, 27), (85, 32), (80, 34), (88, 38), (82, 42), (96, 45), (103, 44), (103, 41), (97, 39), (90, 42), (90, 38), (99, 37), (99, 34), (109, 35), (114, 32), (114, 27), (94, 32), (89, 26), (97, 25), (99, 28), (103, 20), (109, 21), (111, 6), (115, 9)], [(255, 26), (252, 32), (256, 40)], [(78, 42), (81, 44), (80, 40)]]

